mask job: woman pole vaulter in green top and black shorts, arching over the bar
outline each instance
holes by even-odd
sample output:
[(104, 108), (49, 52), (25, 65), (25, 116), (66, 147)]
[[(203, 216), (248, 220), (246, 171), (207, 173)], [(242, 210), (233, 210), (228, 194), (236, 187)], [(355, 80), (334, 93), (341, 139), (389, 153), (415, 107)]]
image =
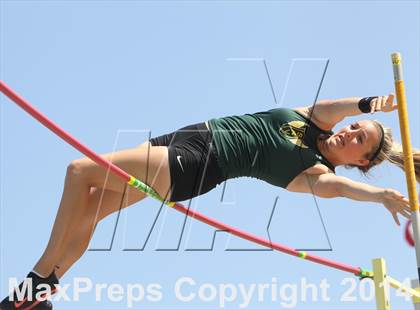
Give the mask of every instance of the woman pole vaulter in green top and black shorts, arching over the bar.
[[(191, 199), (227, 179), (254, 177), (292, 192), (377, 202), (400, 225), (398, 214), (410, 217), (409, 201), (401, 193), (335, 174), (338, 166), (367, 173), (383, 161), (403, 169), (402, 148), (390, 129), (366, 119), (332, 131), (346, 117), (396, 108), (393, 94), (321, 100), (314, 106), (211, 119), (103, 157), (168, 201)], [(413, 157), (420, 182), (420, 152)], [(46, 284), (54, 291), (58, 279), (86, 251), (96, 225), (120, 210), (124, 195), (123, 207), (146, 197), (89, 158), (69, 164), (50, 240), (27, 276), (34, 287)], [(20, 301), (8, 296), (0, 309), (51, 309), (36, 293)]]

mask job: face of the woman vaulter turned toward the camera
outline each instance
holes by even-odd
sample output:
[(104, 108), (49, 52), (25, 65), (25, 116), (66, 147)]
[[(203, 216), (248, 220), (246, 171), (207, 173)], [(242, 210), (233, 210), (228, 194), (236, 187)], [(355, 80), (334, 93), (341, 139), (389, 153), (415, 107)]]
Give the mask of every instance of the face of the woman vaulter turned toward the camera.
[(366, 166), (366, 155), (378, 146), (380, 135), (373, 121), (357, 121), (330, 136), (326, 146), (335, 163)]

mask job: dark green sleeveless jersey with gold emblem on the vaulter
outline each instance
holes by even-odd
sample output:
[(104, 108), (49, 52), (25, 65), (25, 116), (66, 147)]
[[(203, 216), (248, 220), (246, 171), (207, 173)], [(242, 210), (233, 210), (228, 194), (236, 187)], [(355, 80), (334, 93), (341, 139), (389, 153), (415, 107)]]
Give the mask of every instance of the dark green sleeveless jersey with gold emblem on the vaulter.
[(226, 178), (255, 177), (286, 188), (302, 171), (322, 163), (317, 138), (331, 131), (287, 108), (208, 121), (219, 165)]

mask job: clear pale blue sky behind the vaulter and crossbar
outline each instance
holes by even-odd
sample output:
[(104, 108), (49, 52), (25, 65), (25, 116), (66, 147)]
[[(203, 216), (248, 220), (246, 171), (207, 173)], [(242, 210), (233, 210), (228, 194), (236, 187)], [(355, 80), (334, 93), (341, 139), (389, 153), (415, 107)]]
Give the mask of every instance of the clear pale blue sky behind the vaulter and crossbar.
[[(0, 1), (0, 77), (65, 130), (99, 153), (134, 147), (152, 136), (213, 117), (311, 105), (328, 62), (320, 98), (386, 95), (393, 91), (390, 54), (403, 55), (413, 145), (419, 147), (418, 1)], [(264, 65), (265, 63), (265, 65)], [(266, 70), (267, 68), (267, 70)], [(271, 79), (271, 85), (267, 77)], [(272, 86), (272, 87), (271, 87)], [(4, 96), (1, 111), (0, 292), (21, 279), (41, 255), (58, 207), (67, 164), (80, 154)], [(355, 118), (355, 119), (361, 119)], [(399, 138), (396, 113), (374, 118)], [(346, 124), (345, 120), (343, 124)], [(338, 174), (406, 194), (404, 175), (384, 164), (370, 179)], [(25, 182), (22, 182), (25, 180)], [(325, 257), (371, 268), (385, 257), (390, 274), (416, 275), (414, 251), (384, 207), (319, 199), (242, 178), (191, 202), (192, 207), (246, 231), (297, 248), (328, 248)], [(316, 203), (315, 203), (316, 202)], [(372, 309), (374, 300), (340, 299), (347, 274), (261, 249), (145, 200), (124, 211), (109, 252), (89, 252), (63, 278), (96, 283), (161, 285), (159, 301), (135, 308), (215, 309), (216, 298), (180, 301), (183, 277), (203, 283), (331, 285), (330, 301), (298, 301), (295, 309)], [(98, 228), (91, 247), (107, 247), (116, 217)], [(147, 240), (147, 244), (145, 244)], [(142, 248), (143, 251), (122, 251)], [(248, 251), (225, 251), (242, 248)], [(366, 290), (368, 292), (368, 289)], [(285, 300), (283, 300), (285, 302)], [(240, 298), (225, 309), (238, 309)], [(392, 298), (398, 309), (411, 309)], [(254, 297), (247, 309), (286, 308)], [(93, 293), (56, 309), (125, 309)]]

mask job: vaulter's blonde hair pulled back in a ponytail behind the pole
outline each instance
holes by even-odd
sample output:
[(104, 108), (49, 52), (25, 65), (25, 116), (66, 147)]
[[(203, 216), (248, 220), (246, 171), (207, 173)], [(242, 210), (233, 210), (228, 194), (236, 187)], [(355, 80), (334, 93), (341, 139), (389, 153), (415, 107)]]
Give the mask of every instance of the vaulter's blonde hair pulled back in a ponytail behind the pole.
[[(381, 132), (382, 126), (377, 121), (372, 121), (375, 127), (377, 128), (378, 132)], [(381, 164), (383, 161), (387, 160), (390, 163), (400, 167), (404, 170), (404, 153), (402, 149), (402, 145), (395, 141), (392, 138), (392, 131), (390, 128), (382, 126), (384, 132), (384, 141), (381, 150), (379, 151), (378, 155), (369, 161), (369, 164), (366, 166), (356, 166), (362, 174), (368, 175), (368, 171), (373, 167)], [(372, 158), (372, 156), (376, 153), (379, 147), (379, 143), (375, 145), (372, 150), (365, 155), (366, 159)], [(420, 183), (420, 150), (413, 149), (413, 159), (414, 159), (414, 169), (416, 174), (416, 180)], [(346, 165), (346, 168), (352, 168), (355, 166)]]

